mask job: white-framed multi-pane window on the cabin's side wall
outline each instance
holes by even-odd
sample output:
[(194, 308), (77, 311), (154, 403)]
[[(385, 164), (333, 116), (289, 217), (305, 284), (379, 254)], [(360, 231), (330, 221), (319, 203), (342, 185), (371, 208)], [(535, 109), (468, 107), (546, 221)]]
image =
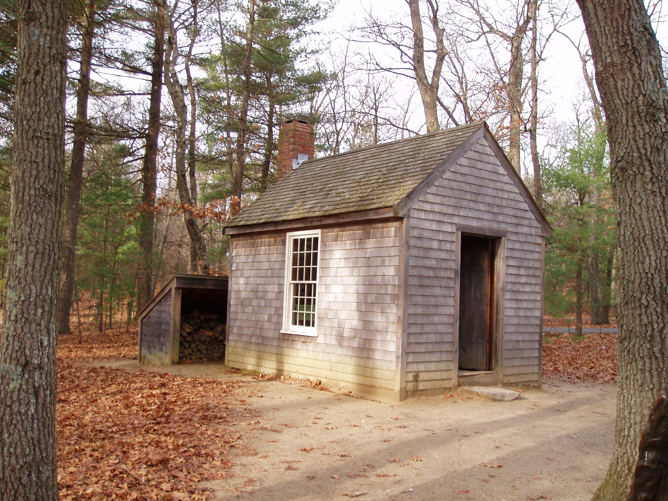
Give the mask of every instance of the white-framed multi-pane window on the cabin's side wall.
[(287, 234), (283, 331), (317, 336), (320, 230)]

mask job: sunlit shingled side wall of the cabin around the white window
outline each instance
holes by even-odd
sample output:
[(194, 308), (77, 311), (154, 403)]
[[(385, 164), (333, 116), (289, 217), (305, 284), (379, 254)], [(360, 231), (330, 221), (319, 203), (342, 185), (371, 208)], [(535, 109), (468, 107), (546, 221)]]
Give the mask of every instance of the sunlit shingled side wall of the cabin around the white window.
[(317, 337), (281, 333), (286, 233), (233, 236), (227, 363), (394, 391), (399, 224), (321, 229)]

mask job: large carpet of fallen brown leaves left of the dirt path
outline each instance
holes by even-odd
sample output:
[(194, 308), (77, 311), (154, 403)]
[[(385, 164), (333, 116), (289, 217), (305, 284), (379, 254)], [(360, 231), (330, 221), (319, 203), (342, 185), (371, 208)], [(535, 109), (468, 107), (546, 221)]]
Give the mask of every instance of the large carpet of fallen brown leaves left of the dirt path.
[(204, 500), (196, 486), (229, 476), (230, 431), (240, 385), (96, 367), (132, 358), (136, 333), (59, 339), (58, 485), (61, 500)]

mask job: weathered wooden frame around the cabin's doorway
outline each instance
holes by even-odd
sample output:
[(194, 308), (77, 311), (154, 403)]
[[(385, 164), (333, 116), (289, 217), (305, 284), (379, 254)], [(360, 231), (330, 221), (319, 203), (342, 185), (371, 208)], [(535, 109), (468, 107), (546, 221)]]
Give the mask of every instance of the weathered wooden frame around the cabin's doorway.
[(470, 226), (467, 224), (455, 225), (455, 281), (454, 281), (454, 333), (452, 348), (452, 388), (459, 386), (459, 305), (460, 305), (460, 279), (462, 265), (462, 233), (469, 236), (490, 238), (496, 241), (496, 253), (494, 255), (494, 284), (492, 286), (492, 360), (491, 371), (496, 373), (498, 383), (501, 383), (502, 349), (503, 349), (503, 311), (504, 291), (506, 289), (506, 231), (496, 228), (485, 228), (483, 226)]

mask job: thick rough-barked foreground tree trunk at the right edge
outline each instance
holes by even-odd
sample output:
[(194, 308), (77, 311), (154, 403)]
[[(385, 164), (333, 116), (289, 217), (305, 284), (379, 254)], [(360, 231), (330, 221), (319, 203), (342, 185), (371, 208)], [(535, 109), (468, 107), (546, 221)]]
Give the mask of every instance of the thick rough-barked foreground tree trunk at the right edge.
[(668, 91), (642, 0), (578, 0), (607, 117), (619, 319), (613, 458), (595, 500), (629, 494), (640, 432), (668, 383)]

